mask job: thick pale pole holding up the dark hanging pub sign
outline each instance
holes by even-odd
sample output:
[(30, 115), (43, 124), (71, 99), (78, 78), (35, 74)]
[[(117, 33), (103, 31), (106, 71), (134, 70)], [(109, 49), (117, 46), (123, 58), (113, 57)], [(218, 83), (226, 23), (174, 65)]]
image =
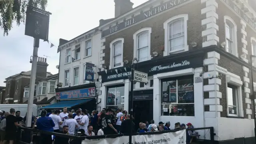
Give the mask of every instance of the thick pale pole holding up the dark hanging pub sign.
[(33, 100), (34, 100), (34, 91), (35, 91), (35, 82), (36, 82), (36, 65), (37, 65), (37, 58), (38, 58), (38, 55), (37, 55), (38, 47), (39, 47), (39, 39), (34, 38), (34, 50), (33, 50), (33, 59), (32, 59), (29, 93), (28, 93), (28, 109), (27, 109), (27, 116), (26, 116), (26, 127), (31, 127)]

